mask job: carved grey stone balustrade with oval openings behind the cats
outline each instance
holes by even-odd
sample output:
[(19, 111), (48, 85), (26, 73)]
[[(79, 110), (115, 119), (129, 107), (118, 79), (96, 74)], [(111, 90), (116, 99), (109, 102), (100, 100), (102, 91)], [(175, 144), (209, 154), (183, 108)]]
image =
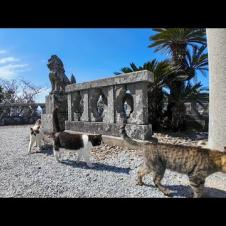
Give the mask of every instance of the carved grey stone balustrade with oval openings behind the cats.
[(152, 82), (153, 74), (144, 70), (66, 86), (65, 129), (120, 136), (127, 115), (127, 133), (134, 139), (148, 140), (152, 126), (148, 123), (147, 92)]

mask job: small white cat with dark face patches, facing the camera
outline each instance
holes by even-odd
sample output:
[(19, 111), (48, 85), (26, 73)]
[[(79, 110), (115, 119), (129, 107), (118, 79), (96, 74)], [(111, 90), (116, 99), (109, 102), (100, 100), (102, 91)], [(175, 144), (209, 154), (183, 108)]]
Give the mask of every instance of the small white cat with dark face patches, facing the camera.
[(28, 153), (31, 153), (31, 149), (33, 146), (38, 146), (39, 150), (41, 150), (41, 141), (44, 141), (44, 135), (41, 130), (41, 120), (38, 119), (35, 125), (30, 128), (30, 142), (28, 145)]

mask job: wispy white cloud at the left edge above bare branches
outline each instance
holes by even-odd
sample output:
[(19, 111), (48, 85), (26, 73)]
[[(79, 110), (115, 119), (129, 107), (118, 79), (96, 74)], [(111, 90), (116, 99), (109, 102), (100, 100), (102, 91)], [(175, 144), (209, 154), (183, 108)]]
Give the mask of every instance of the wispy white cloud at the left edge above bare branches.
[(0, 66), (0, 78), (1, 79), (13, 79), (19, 75), (20, 72), (28, 70), (28, 64), (6, 64)]

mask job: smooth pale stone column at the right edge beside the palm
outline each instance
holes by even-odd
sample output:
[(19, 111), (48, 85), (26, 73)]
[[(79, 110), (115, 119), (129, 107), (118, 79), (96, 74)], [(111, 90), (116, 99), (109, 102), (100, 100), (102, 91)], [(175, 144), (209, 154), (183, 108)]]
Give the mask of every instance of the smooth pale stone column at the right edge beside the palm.
[(207, 29), (209, 57), (208, 146), (220, 151), (226, 146), (226, 29)]

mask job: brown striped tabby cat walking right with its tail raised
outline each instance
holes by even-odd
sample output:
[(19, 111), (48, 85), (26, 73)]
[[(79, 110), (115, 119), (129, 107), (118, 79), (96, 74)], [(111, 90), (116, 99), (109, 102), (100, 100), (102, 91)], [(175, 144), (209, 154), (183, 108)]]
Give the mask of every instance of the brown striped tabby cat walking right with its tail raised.
[(143, 185), (143, 177), (153, 172), (155, 186), (166, 196), (171, 196), (169, 189), (161, 184), (165, 170), (170, 169), (187, 174), (193, 197), (203, 196), (205, 179), (215, 172), (226, 172), (226, 147), (225, 152), (202, 147), (164, 144), (149, 142), (142, 144), (128, 137), (126, 124), (121, 127), (121, 135), (131, 147), (144, 150), (144, 165), (138, 170), (137, 184)]

